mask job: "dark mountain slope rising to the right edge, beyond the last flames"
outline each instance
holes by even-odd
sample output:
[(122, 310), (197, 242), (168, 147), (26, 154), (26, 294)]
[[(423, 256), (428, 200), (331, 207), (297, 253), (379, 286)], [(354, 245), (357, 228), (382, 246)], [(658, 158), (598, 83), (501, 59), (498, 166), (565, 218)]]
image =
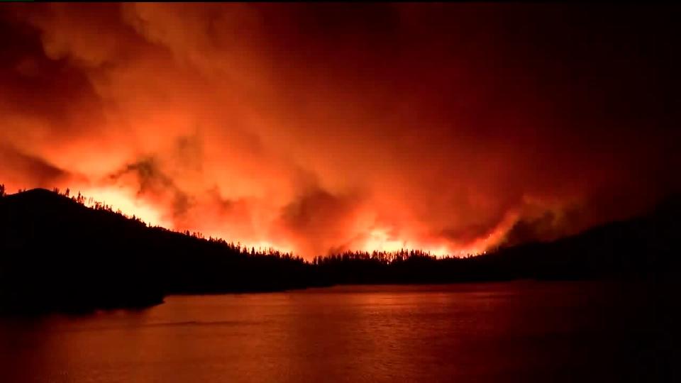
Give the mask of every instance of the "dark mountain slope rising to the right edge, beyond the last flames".
[(680, 218), (681, 198), (670, 196), (644, 215), (550, 242), (503, 248), (480, 261), (538, 279), (673, 279), (681, 267)]

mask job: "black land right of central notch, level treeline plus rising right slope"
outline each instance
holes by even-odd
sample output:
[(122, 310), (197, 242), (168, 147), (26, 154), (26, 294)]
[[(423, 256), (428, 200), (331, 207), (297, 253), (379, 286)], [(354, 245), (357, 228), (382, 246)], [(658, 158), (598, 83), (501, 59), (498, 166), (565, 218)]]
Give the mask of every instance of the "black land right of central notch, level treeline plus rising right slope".
[(345, 252), (316, 257), (333, 284), (480, 282), (511, 279), (626, 279), (673, 282), (681, 270), (681, 199), (653, 211), (548, 242), (484, 255), (437, 258), (418, 250)]

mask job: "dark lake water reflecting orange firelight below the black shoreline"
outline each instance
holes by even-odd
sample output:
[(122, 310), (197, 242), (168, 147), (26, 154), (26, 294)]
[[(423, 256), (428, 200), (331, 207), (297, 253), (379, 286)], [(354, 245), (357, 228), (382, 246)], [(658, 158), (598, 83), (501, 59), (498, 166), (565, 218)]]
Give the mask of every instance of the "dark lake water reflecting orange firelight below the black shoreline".
[(681, 381), (678, 323), (653, 290), (333, 287), (0, 318), (0, 382)]

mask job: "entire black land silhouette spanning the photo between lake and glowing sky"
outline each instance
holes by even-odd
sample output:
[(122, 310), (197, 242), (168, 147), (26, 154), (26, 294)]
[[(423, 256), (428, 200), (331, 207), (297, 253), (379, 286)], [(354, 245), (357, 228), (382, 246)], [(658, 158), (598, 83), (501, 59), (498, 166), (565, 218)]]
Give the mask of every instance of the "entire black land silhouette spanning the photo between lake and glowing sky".
[(680, 270), (681, 199), (626, 221), (475, 257), (418, 250), (300, 257), (149, 227), (83, 197), (33, 189), (0, 198), (0, 311), (143, 307), (166, 294), (333, 284), (509, 279), (658, 279)]

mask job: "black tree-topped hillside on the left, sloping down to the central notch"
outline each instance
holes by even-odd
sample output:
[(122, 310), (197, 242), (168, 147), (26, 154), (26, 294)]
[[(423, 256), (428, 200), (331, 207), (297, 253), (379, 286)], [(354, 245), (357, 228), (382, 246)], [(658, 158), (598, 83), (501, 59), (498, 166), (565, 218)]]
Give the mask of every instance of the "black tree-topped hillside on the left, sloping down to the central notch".
[(304, 287), (279, 252), (152, 228), (46, 189), (0, 199), (0, 307), (87, 310), (160, 303), (165, 294)]

